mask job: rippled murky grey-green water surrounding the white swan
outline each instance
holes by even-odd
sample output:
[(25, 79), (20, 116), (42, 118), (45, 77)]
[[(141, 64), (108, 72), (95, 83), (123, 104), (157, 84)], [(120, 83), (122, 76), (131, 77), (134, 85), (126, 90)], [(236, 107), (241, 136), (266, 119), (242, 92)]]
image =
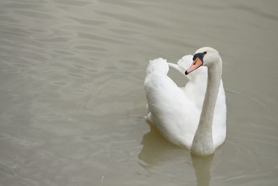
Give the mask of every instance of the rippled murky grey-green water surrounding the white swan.
[[(2, 0), (0, 185), (277, 185), (277, 6)], [(227, 93), (227, 140), (209, 159), (143, 118), (149, 59), (202, 46), (220, 52)]]

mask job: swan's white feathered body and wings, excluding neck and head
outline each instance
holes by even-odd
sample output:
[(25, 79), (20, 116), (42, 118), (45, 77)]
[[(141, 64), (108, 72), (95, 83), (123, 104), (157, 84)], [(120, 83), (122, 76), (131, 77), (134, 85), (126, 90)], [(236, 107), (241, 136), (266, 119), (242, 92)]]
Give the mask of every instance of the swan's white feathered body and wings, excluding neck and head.
[[(173, 144), (190, 149), (199, 123), (206, 93), (207, 68), (191, 72), (185, 87), (179, 88), (167, 76), (169, 66), (183, 73), (192, 63), (193, 56), (183, 56), (176, 64), (164, 59), (149, 61), (145, 77), (145, 93), (149, 105), (147, 122)], [(213, 143), (220, 146), (226, 137), (226, 98), (222, 80), (213, 115)]]

